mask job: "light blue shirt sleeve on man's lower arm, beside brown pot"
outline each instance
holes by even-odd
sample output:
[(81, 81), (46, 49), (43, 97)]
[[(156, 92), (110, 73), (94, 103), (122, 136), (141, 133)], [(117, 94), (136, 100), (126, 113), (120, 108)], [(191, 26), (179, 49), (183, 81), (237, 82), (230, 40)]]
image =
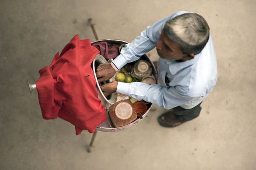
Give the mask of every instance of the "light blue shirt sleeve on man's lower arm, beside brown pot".
[(179, 85), (162, 86), (162, 85), (147, 85), (145, 83), (133, 82), (123, 83), (118, 82), (117, 92), (126, 94), (138, 101), (144, 100), (151, 102), (159, 107), (165, 109), (171, 109), (173, 107), (185, 104), (192, 101), (195, 96), (190, 96), (186, 90), (186, 87)]

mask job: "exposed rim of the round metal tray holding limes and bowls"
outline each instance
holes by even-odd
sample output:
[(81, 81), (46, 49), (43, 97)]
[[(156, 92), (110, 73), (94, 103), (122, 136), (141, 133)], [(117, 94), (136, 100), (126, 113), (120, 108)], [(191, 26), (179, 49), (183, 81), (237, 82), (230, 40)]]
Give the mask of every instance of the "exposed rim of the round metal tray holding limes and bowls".
[[(119, 44), (119, 45), (121, 45), (121, 44), (127, 44), (127, 43), (128, 43), (128, 42), (126, 42), (126, 41), (118, 40), (118, 39), (102, 39), (102, 40), (97, 40), (97, 41), (91, 42), (91, 44), (94, 44), (94, 43), (96, 43), (96, 42), (107, 42), (108, 44)], [(147, 60), (147, 61), (150, 63), (150, 65), (152, 66), (152, 76), (154, 76), (156, 82), (158, 83), (157, 73), (156, 73), (156, 69), (155, 69), (155, 67), (154, 67), (154, 64), (150, 61), (149, 57), (148, 57), (146, 54), (142, 55), (142, 56), (141, 56), (141, 59)], [(96, 79), (96, 81), (97, 81), (97, 79)], [(147, 112), (142, 116), (142, 119), (144, 119), (144, 118), (147, 116), (147, 114), (149, 113), (149, 111), (150, 111), (150, 109), (151, 109), (151, 106), (152, 106), (152, 104), (149, 103), (149, 104), (148, 104), (148, 110), (147, 110)], [(106, 106), (106, 108), (108, 108), (108, 107), (109, 107), (109, 105)], [(106, 110), (107, 110), (107, 109), (106, 109)], [(107, 112), (108, 112), (108, 110), (107, 110)], [(99, 131), (103, 131), (103, 132), (118, 132), (118, 131), (123, 131), (123, 130), (129, 128), (129, 127), (134, 126), (135, 124), (137, 124), (138, 122), (140, 122), (142, 119), (137, 118), (136, 120), (134, 120), (133, 122), (131, 122), (131, 123), (125, 125), (125, 126), (122, 126), (122, 127), (114, 127), (113, 124), (112, 124), (112, 122), (111, 122), (111, 120), (110, 120), (110, 118), (109, 118), (109, 116), (108, 116), (108, 113), (107, 113), (107, 120), (104, 121), (103, 123), (101, 123), (96, 129), (99, 130)]]

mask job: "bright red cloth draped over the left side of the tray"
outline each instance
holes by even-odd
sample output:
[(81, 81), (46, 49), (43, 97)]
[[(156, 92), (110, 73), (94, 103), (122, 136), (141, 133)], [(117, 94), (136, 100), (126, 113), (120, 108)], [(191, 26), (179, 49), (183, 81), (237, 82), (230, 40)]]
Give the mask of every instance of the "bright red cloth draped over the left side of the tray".
[(43, 119), (60, 117), (75, 125), (76, 135), (84, 129), (93, 133), (107, 120), (91, 69), (97, 54), (89, 39), (75, 35), (49, 67), (40, 69), (36, 85)]

